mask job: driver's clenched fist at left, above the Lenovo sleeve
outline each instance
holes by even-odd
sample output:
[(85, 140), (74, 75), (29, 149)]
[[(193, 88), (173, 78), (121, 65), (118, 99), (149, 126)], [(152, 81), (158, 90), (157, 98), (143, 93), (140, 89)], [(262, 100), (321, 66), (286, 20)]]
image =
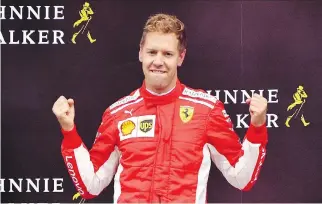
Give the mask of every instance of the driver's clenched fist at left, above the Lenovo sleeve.
[(73, 99), (66, 99), (60, 96), (53, 105), (53, 112), (56, 115), (62, 129), (69, 131), (74, 127), (75, 107)]

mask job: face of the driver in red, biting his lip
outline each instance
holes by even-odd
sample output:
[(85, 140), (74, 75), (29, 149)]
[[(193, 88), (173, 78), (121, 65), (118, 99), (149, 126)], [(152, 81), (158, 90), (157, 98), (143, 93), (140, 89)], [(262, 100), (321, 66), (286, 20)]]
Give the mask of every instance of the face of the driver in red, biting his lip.
[(146, 87), (154, 92), (166, 92), (177, 80), (177, 67), (181, 66), (186, 50), (179, 53), (178, 39), (174, 33), (147, 33), (140, 47)]

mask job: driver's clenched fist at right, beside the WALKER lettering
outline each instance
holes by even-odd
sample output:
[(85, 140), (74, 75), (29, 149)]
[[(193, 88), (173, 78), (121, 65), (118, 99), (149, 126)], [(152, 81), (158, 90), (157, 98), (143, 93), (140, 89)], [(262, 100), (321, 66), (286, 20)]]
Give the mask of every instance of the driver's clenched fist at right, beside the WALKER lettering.
[(246, 103), (249, 104), (251, 124), (259, 127), (266, 123), (267, 100), (259, 94), (254, 94)]

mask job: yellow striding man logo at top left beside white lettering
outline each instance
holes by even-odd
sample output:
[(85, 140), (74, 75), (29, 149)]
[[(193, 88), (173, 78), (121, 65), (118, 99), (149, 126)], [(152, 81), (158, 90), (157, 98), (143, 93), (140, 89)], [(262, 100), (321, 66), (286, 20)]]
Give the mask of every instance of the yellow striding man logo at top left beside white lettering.
[(89, 41), (91, 43), (96, 42), (96, 39), (92, 38), (91, 33), (88, 28), (89, 22), (92, 20), (93, 14), (94, 14), (94, 12), (93, 12), (92, 8), (90, 7), (89, 3), (85, 2), (82, 10), (79, 12), (79, 15), (81, 18), (79, 20), (77, 20), (73, 25), (73, 27), (76, 28), (80, 24), (82, 24), (81, 28), (76, 33), (73, 34), (73, 37), (72, 37), (73, 44), (76, 44), (76, 37), (80, 33), (83, 34), (86, 30), (87, 30), (87, 38), (89, 39)]

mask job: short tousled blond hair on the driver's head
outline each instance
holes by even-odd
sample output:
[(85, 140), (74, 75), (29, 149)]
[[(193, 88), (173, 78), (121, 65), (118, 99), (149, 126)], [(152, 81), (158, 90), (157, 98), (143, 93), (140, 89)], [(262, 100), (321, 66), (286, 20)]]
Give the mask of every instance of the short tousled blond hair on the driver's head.
[(141, 46), (144, 44), (145, 36), (149, 32), (174, 33), (179, 40), (179, 51), (182, 52), (187, 47), (185, 26), (176, 16), (163, 13), (150, 16), (143, 28)]

